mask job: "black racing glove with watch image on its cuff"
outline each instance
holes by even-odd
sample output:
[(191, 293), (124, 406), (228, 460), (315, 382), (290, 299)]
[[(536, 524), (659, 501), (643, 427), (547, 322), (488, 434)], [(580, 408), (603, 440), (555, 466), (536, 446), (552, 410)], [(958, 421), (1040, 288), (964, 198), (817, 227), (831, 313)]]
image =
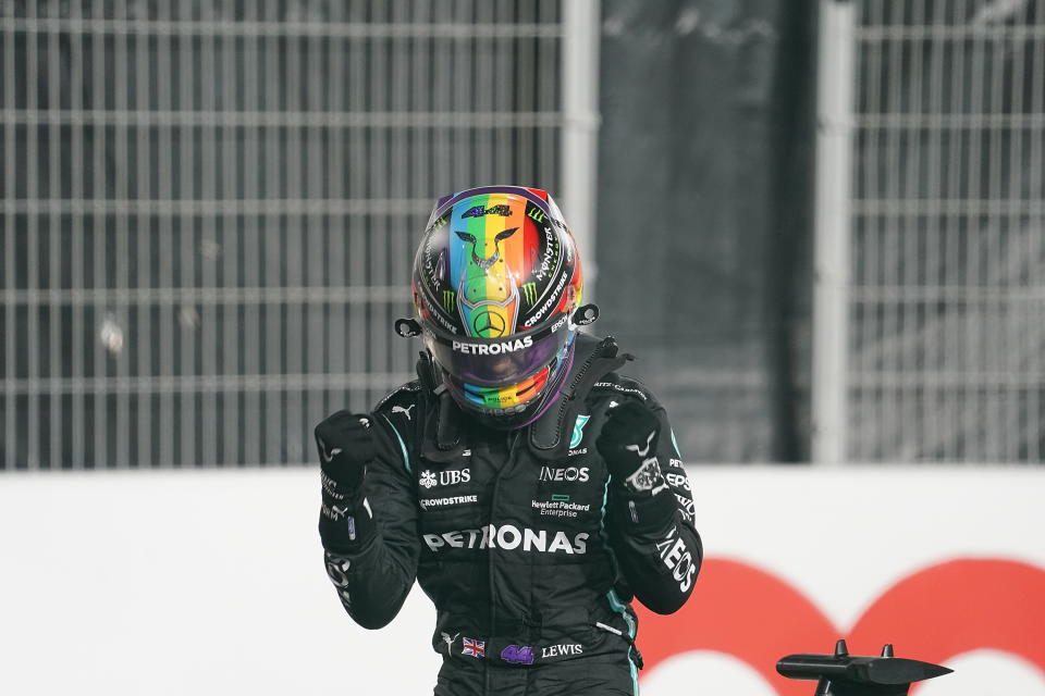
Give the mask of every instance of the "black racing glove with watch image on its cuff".
[(667, 487), (656, 460), (660, 432), (656, 417), (641, 403), (629, 401), (610, 411), (595, 448), (628, 497), (651, 497)]

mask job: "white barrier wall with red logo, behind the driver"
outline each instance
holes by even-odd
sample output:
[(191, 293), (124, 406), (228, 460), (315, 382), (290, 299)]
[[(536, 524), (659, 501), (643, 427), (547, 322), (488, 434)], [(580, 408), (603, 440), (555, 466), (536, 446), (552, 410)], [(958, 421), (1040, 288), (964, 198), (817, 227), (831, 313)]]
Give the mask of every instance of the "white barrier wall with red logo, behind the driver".
[[(920, 696), (1045, 696), (1045, 472), (690, 478), (708, 562), (681, 613), (646, 617), (644, 696), (808, 695), (773, 661), (835, 637), (957, 670)], [(318, 490), (302, 470), (0, 477), (0, 693), (430, 694), (427, 597), (354, 625)]]

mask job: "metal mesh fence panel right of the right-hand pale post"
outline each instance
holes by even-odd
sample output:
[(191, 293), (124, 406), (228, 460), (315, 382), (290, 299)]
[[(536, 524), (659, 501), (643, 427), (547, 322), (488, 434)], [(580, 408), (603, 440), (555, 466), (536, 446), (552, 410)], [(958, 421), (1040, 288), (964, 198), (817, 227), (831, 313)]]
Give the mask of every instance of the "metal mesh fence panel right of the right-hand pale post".
[(1045, 4), (858, 4), (848, 457), (1042, 461)]

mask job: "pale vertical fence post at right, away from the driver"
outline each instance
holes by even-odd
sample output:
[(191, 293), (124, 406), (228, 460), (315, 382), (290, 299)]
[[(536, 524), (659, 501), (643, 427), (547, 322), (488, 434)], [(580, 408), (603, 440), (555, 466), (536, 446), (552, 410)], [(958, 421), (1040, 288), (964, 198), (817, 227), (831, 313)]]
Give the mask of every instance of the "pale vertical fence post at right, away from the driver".
[(813, 290), (813, 461), (846, 461), (856, 9), (821, 0)]

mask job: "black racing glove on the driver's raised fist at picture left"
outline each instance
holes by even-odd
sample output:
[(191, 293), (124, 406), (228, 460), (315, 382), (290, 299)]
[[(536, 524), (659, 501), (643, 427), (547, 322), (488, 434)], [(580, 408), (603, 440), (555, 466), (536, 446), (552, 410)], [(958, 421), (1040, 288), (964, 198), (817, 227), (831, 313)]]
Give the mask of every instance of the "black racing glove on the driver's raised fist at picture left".
[(328, 550), (349, 551), (373, 533), (364, 496), (367, 462), (377, 455), (368, 415), (337, 411), (316, 426), (322, 507), (319, 535)]

